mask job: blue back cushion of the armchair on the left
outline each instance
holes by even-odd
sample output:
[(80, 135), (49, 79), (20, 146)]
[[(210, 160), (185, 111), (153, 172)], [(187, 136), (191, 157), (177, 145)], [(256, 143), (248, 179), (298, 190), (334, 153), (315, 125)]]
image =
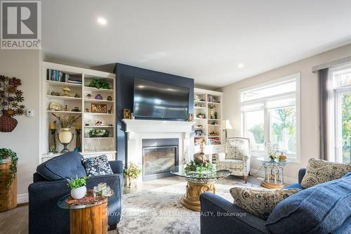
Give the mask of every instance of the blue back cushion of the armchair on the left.
[(79, 152), (66, 152), (53, 157), (37, 167), (37, 172), (49, 181), (62, 178), (76, 178), (86, 176), (86, 170), (81, 164), (83, 156)]

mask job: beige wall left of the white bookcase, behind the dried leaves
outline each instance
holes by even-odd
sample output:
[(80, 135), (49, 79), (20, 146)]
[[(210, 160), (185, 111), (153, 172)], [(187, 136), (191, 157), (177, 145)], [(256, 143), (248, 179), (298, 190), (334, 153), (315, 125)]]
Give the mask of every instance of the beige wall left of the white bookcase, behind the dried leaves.
[(11, 133), (0, 132), (0, 148), (17, 152), (18, 202), (27, 200), (27, 188), (39, 164), (39, 66), (38, 50), (0, 50), (0, 74), (22, 80), (27, 109), (34, 110), (34, 117), (15, 117), (18, 126)]

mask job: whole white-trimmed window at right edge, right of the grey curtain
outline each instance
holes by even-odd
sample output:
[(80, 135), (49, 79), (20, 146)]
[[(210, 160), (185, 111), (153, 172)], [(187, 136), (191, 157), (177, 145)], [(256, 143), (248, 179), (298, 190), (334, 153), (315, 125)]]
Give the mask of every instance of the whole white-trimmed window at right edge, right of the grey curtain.
[(351, 162), (351, 65), (331, 69), (333, 117), (330, 117), (332, 139), (330, 155), (334, 162)]

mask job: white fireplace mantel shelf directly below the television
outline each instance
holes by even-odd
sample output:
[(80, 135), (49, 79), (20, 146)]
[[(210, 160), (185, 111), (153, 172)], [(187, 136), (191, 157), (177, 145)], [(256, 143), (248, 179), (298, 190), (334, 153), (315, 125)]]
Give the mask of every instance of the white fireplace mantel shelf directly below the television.
[(192, 132), (194, 122), (147, 120), (147, 119), (122, 119), (126, 124), (126, 132)]

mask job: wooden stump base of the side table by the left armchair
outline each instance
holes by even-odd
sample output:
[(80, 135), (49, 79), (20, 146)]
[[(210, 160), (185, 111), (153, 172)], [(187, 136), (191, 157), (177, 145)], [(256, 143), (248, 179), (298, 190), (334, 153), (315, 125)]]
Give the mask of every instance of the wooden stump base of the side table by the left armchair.
[(107, 234), (107, 202), (84, 209), (69, 211), (69, 233)]

